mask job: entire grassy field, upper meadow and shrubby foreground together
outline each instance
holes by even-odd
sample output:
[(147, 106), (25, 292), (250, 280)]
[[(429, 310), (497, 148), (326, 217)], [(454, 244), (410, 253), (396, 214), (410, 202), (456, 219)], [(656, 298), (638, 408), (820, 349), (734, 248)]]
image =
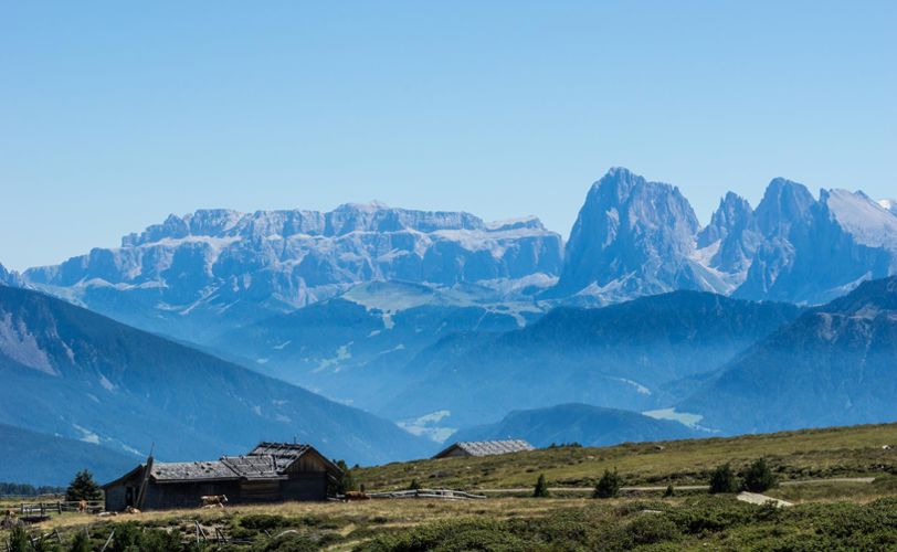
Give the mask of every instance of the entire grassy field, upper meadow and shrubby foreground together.
[[(172, 510), (97, 518), (54, 516), (31, 526), (50, 535), (36, 548), (108, 552), (179, 550), (897, 550), (897, 425), (858, 426), (737, 438), (558, 448), (492, 458), (390, 464), (356, 470), (369, 490), (425, 487), (591, 487), (616, 467), (627, 485), (706, 484), (722, 463), (766, 457), (782, 480), (873, 476), (873, 482), (781, 485), (767, 493), (796, 506), (774, 509), (703, 490), (582, 492), (551, 498), (472, 501), (370, 500)], [(526, 493), (523, 493), (526, 495)], [(2, 507), (3, 505), (0, 505)], [(197, 541), (197, 524), (211, 539)], [(214, 542), (215, 534), (229, 543)], [(0, 551), (17, 535), (0, 531)], [(21, 538), (21, 535), (18, 535)]]

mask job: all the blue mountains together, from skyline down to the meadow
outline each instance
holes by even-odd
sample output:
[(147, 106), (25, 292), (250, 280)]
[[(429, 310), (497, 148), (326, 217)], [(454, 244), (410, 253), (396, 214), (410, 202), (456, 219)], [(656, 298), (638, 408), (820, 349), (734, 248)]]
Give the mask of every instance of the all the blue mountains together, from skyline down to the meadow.
[(701, 226), (678, 188), (614, 168), (566, 244), (531, 216), (199, 210), (0, 265), (0, 423), (135, 458), (295, 437), (370, 464), (455, 429), (604, 444), (885, 421), (895, 274), (894, 201), (782, 178)]

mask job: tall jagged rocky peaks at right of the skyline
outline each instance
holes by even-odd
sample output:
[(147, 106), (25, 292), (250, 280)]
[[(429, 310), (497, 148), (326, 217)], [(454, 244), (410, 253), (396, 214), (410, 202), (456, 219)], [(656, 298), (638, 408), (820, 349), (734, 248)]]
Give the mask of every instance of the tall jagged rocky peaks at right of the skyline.
[[(825, 263), (819, 263), (826, 258)], [(699, 227), (679, 190), (611, 169), (589, 191), (547, 297), (616, 302), (676, 289), (816, 305), (897, 274), (894, 204), (773, 179), (757, 209), (727, 193)]]

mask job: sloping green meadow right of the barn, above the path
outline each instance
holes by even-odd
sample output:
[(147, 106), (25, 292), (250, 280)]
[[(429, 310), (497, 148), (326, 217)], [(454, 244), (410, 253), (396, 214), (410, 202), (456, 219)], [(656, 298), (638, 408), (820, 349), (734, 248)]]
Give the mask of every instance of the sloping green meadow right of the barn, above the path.
[(897, 474), (897, 450), (883, 445), (897, 445), (897, 424), (418, 460), (363, 468), (356, 478), (369, 490), (405, 488), (415, 478), (424, 487), (529, 487), (539, 474), (550, 486), (591, 487), (618, 468), (626, 486), (700, 485), (720, 464), (740, 469), (759, 457), (785, 480)]

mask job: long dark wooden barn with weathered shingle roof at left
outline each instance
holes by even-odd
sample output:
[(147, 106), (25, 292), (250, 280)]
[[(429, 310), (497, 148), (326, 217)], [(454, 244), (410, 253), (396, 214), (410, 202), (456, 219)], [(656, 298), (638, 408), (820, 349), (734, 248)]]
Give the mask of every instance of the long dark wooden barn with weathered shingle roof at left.
[(326, 500), (341, 470), (310, 445), (260, 443), (243, 456), (212, 461), (158, 463), (150, 456), (103, 486), (106, 510), (194, 508), (202, 497), (228, 503)]

